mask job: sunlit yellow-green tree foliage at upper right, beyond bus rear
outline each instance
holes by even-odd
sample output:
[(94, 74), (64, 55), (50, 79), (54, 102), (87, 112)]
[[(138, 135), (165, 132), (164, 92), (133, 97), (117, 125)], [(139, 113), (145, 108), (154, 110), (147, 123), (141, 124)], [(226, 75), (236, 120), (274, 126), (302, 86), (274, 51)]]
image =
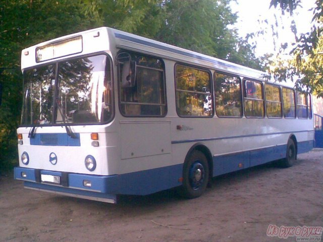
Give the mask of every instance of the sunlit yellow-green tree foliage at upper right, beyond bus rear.
[[(301, 6), (301, 0), (272, 0), (274, 6), (293, 16), (296, 8)], [(268, 73), (277, 81), (291, 79), (298, 88), (307, 88), (314, 94), (323, 97), (323, 1), (316, 0), (316, 7), (312, 9), (312, 27), (307, 33), (298, 34), (297, 26), (292, 23), (291, 30), (295, 35), (293, 50), (289, 53), (292, 58), (285, 61), (282, 56), (268, 66)], [(285, 46), (282, 46), (281, 53)]]

